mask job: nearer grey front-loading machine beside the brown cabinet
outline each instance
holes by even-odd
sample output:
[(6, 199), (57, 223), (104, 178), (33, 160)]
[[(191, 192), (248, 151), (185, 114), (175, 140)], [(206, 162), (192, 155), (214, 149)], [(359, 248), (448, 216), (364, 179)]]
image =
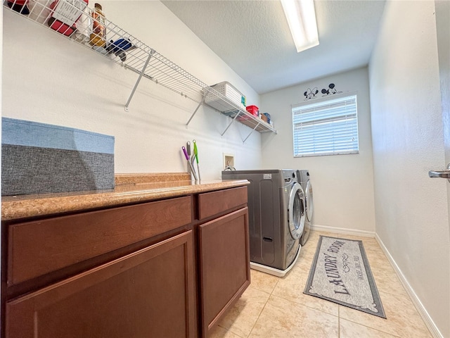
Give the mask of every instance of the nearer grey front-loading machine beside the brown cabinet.
[(226, 170), (222, 180), (250, 181), (250, 268), (283, 277), (297, 261), (306, 220), (295, 170)]

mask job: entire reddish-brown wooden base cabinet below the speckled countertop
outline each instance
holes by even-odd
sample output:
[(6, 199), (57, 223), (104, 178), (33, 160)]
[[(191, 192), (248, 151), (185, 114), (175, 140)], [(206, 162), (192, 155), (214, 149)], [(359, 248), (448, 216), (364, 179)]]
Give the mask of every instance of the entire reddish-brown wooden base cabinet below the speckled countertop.
[(6, 338), (208, 337), (250, 284), (247, 187), (3, 228)]

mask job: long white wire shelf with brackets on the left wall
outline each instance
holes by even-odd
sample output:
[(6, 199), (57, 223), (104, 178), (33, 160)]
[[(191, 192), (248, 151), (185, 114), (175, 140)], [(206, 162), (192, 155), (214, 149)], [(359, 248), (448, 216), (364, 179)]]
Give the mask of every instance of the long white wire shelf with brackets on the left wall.
[[(229, 124), (221, 133), (222, 136), (234, 121), (250, 127), (252, 129), (250, 134), (254, 130), (276, 133), (272, 125), (248, 113), (243, 106), (239, 106), (214, 88), (198, 80), (198, 78), (107, 18), (100, 23), (104, 27), (104, 44), (93, 46), (91, 43), (92, 26), (93, 23), (98, 23), (98, 21), (92, 16), (94, 10), (87, 7), (86, 2), (82, 0), (4, 0), (4, 9), (53, 30), (61, 37), (72, 39), (91, 49), (91, 51), (95, 51), (110, 61), (114, 61), (125, 69), (138, 74), (136, 84), (134, 84), (134, 88), (124, 106), (125, 111), (128, 111), (134, 92), (144, 77), (198, 103), (197, 108), (186, 123), (186, 127), (191, 123), (198, 108), (207, 104), (205, 103), (205, 96), (213, 95), (217, 97), (217, 100), (214, 101), (214, 107), (212, 108), (230, 118)], [(250, 137), (250, 134), (245, 137), (243, 142)]]

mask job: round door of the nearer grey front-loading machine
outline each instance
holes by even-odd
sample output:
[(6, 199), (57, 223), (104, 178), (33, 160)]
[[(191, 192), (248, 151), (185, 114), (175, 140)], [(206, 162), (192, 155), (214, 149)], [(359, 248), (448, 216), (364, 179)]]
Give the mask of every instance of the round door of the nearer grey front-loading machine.
[(300, 184), (295, 182), (290, 189), (288, 203), (288, 223), (293, 239), (298, 239), (304, 229), (304, 194)]

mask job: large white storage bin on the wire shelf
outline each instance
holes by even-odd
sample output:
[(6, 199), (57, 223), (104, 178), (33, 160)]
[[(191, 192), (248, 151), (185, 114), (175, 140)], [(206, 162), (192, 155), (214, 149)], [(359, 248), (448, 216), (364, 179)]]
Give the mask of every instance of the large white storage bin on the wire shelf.
[[(212, 89), (223, 95), (225, 99), (231, 101), (232, 104), (239, 108), (245, 109), (245, 96), (238, 91), (230, 82), (220, 82), (211, 86)], [(207, 92), (205, 95), (205, 104), (216, 108), (218, 111), (236, 111), (236, 107), (227, 103), (220, 97), (218, 97), (214, 92)]]

